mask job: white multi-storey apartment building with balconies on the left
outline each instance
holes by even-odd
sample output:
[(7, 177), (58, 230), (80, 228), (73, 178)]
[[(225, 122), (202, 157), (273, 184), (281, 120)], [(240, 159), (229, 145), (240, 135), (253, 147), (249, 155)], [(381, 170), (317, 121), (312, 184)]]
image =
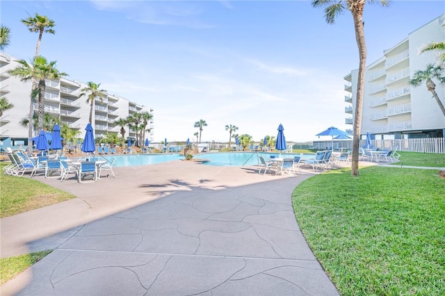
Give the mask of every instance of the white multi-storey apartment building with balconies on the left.
[[(20, 120), (28, 117), (30, 109), (31, 82), (23, 82), (19, 77), (10, 76), (8, 70), (14, 69), (19, 64), (17, 58), (8, 54), (0, 53), (0, 97), (6, 97), (14, 105), (6, 110), (0, 118), (0, 140), (7, 142), (8, 146), (28, 145), (28, 128), (19, 124)], [(79, 98), (82, 88), (86, 83), (76, 80), (62, 78), (57, 81), (46, 81), (44, 94), (44, 112), (58, 117), (61, 122), (70, 126), (71, 129), (80, 131), (79, 138), (85, 135), (85, 127), (90, 116), (90, 104), (86, 103), (86, 97)], [(119, 118), (126, 118), (133, 112), (148, 111), (153, 114), (153, 109), (140, 106), (128, 99), (116, 94), (105, 93), (103, 99), (95, 99), (95, 108), (92, 115), (92, 126), (95, 137), (105, 133), (119, 133), (120, 126), (114, 122)], [(38, 104), (34, 104), (34, 112), (38, 112)], [(154, 122), (150, 122), (151, 129), (149, 140), (154, 138)], [(136, 137), (136, 133), (125, 126), (125, 135)], [(37, 132), (37, 131), (36, 131)], [(6, 145), (6, 143), (4, 143)]]

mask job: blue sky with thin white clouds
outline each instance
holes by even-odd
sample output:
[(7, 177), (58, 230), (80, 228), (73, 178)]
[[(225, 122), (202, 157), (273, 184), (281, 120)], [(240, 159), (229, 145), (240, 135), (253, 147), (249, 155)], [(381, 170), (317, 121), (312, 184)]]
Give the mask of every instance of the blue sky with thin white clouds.
[[(368, 63), (445, 12), (444, 1), (366, 5)], [(348, 129), (344, 81), (358, 67), (348, 11), (328, 25), (310, 1), (1, 1), (12, 30), (7, 54), (30, 60), (37, 33), (20, 19), (56, 22), (40, 54), (69, 79), (102, 83), (110, 94), (154, 108), (154, 140), (227, 141), (226, 124), (254, 140), (317, 140)], [(328, 139), (327, 139), (328, 140)]]

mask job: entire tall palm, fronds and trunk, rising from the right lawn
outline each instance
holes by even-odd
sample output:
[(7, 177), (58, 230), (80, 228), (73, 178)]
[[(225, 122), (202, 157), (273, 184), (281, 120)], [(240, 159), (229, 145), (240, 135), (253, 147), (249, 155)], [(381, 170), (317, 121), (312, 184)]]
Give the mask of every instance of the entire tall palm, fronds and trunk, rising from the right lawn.
[(353, 138), (353, 161), (351, 163), (351, 174), (359, 176), (359, 145), (360, 130), (362, 129), (362, 109), (364, 96), (364, 72), (366, 67), (366, 44), (364, 40), (363, 11), (366, 2), (379, 2), (382, 6), (387, 6), (389, 0), (312, 0), (315, 8), (324, 8), (325, 20), (327, 24), (334, 24), (335, 17), (345, 10), (349, 10), (353, 15), (355, 40), (359, 50), (359, 72), (357, 79), (357, 94), (355, 97), (354, 113), (354, 138)]

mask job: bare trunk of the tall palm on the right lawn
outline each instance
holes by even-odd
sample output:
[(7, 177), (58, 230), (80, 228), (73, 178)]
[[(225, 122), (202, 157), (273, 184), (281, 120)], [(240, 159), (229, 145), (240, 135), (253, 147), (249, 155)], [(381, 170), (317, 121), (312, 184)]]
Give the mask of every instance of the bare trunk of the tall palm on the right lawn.
[(357, 94), (355, 99), (355, 113), (354, 113), (354, 138), (353, 138), (353, 156), (351, 163), (351, 175), (359, 176), (359, 145), (360, 145), (360, 131), (362, 130), (362, 111), (363, 111), (363, 96), (364, 96), (364, 71), (366, 67), (366, 43), (364, 40), (363, 29), (363, 8), (364, 3), (356, 2), (353, 4), (352, 13), (355, 27), (355, 39), (359, 49), (359, 72), (357, 78)]

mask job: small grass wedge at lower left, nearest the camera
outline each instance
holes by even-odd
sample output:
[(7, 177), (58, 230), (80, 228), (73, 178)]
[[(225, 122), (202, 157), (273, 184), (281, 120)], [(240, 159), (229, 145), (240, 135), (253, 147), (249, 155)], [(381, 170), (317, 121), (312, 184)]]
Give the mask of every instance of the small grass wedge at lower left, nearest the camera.
[(13, 279), (17, 274), (29, 268), (37, 261), (40, 261), (44, 256), (53, 252), (52, 249), (47, 251), (24, 254), (16, 257), (1, 258), (0, 259), (0, 285)]

